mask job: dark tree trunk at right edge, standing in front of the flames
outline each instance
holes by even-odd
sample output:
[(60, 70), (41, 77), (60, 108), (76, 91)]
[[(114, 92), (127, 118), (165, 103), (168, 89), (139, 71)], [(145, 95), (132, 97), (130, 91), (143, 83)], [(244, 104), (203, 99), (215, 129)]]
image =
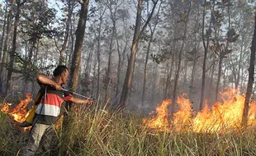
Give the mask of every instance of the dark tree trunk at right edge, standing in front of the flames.
[(243, 110), (243, 118), (242, 118), (242, 126), (244, 128), (247, 127), (248, 122), (248, 113), (249, 113), (249, 101), (252, 94), (252, 89), (254, 85), (254, 62), (255, 62), (255, 51), (256, 51), (256, 12), (254, 14), (254, 37), (251, 46), (251, 56), (249, 61), (249, 79), (246, 90), (246, 96), (244, 100), (244, 110)]

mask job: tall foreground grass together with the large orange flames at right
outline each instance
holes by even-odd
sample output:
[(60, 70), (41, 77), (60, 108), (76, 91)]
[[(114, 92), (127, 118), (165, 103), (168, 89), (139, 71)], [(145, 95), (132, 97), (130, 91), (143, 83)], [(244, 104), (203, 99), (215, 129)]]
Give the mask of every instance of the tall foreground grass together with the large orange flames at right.
[[(243, 98), (233, 95), (235, 99), (225, 94), (223, 103), (216, 103), (211, 109), (206, 107), (195, 117), (189, 100), (179, 97), (180, 109), (173, 114), (173, 120), (168, 118), (165, 109), (171, 101), (164, 101), (157, 109), (156, 117), (160, 118), (144, 119), (144, 122), (143, 117), (111, 112), (100, 108), (99, 103), (92, 108), (80, 105), (78, 112), (70, 114), (69, 126), (56, 130), (53, 144), (57, 148), (53, 155), (256, 155), (256, 107), (251, 104), (250, 127), (239, 131), (241, 105), (238, 101)], [(227, 112), (229, 115), (225, 115)], [(232, 113), (235, 116), (230, 117)], [(12, 120), (0, 112), (1, 155), (15, 155), (26, 144), (28, 132), (22, 132)], [(154, 123), (153, 128), (149, 122)], [(159, 126), (157, 122), (164, 124)]]

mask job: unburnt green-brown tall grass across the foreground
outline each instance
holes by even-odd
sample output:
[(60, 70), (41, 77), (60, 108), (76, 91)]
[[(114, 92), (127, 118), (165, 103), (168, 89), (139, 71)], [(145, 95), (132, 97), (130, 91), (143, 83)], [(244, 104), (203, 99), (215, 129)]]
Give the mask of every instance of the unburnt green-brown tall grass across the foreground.
[[(79, 108), (72, 122), (56, 130), (52, 155), (256, 155), (256, 131), (178, 133), (150, 130), (142, 118), (107, 108)], [(0, 112), (0, 154), (16, 155), (28, 132)]]

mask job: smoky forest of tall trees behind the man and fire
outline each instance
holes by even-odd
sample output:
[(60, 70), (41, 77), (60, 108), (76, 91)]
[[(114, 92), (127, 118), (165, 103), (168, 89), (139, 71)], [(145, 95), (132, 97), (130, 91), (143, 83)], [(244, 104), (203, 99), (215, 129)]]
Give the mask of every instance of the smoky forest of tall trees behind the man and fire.
[(181, 94), (198, 111), (226, 89), (246, 93), (252, 1), (16, 0), (0, 14), (2, 99), (35, 94), (36, 73), (58, 65), (67, 89), (140, 112), (163, 99), (174, 112)]

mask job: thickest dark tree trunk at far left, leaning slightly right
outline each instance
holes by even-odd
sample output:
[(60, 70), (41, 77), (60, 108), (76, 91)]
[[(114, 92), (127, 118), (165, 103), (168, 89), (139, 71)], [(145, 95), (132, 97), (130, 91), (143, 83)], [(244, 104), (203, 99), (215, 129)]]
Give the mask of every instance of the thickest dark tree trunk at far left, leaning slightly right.
[(10, 66), (7, 71), (7, 89), (6, 89), (6, 96), (8, 96), (11, 86), (12, 86), (12, 72), (13, 72), (13, 65), (14, 65), (14, 57), (16, 53), (16, 40), (17, 40), (17, 27), (20, 19), (20, 13), (21, 13), (21, 6), (26, 2), (24, 0), (21, 2), (20, 0), (17, 0), (17, 12), (15, 16), (15, 21), (14, 21), (14, 27), (13, 27), (13, 38), (12, 38), (12, 51), (10, 53)]

